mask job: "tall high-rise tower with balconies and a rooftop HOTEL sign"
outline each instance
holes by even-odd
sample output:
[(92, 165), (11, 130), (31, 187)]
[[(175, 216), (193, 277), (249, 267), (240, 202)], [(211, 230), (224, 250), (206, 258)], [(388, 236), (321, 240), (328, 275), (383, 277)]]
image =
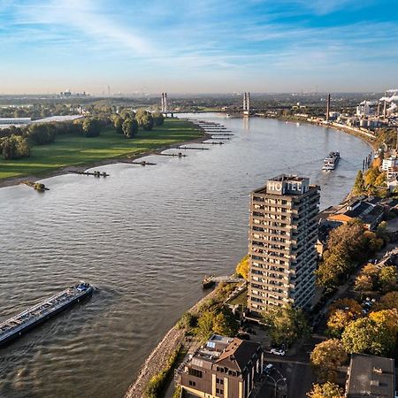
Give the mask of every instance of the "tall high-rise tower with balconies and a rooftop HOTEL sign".
[(282, 174), (251, 193), (249, 310), (310, 306), (318, 254), (319, 187)]

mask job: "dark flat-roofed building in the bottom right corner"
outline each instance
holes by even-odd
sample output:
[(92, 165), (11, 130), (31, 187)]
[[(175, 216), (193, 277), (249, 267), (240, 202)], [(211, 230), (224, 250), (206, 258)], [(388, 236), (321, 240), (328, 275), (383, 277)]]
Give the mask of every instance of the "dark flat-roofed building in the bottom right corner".
[(347, 398), (394, 398), (394, 359), (353, 354), (348, 367)]

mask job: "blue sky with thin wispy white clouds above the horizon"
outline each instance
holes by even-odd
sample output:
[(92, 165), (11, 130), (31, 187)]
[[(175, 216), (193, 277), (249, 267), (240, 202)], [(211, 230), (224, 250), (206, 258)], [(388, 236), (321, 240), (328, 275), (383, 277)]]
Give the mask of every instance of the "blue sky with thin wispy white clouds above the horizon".
[(0, 0), (0, 94), (376, 91), (397, 0)]

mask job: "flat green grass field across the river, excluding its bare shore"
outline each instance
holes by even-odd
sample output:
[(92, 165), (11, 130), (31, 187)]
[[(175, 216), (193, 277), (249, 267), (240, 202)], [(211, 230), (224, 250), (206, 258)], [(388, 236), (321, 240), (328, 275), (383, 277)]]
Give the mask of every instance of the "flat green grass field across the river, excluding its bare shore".
[(156, 126), (149, 132), (140, 129), (132, 140), (127, 140), (123, 134), (116, 134), (113, 129), (103, 130), (101, 135), (93, 138), (59, 135), (49, 145), (34, 146), (30, 157), (7, 161), (0, 159), (0, 180), (44, 176), (67, 165), (90, 165), (113, 157), (140, 155), (201, 136), (202, 132), (195, 126), (179, 119), (165, 119), (163, 126)]

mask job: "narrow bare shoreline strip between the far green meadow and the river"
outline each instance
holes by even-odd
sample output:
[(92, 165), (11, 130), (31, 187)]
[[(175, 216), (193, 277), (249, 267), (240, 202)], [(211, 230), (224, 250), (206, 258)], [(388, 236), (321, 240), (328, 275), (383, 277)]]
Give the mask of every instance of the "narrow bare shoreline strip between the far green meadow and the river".
[(88, 169), (92, 169), (93, 167), (99, 167), (103, 165), (115, 165), (118, 163), (131, 163), (134, 160), (140, 159), (142, 157), (148, 157), (151, 155), (158, 155), (162, 153), (166, 149), (172, 149), (174, 147), (178, 147), (181, 145), (187, 145), (187, 144), (192, 144), (192, 143), (201, 143), (205, 142), (206, 140), (209, 140), (211, 138), (211, 134), (205, 133), (203, 128), (199, 126), (195, 126), (200, 132), (202, 132), (202, 136), (195, 138), (193, 140), (185, 141), (185, 142), (175, 142), (170, 145), (164, 145), (162, 147), (159, 147), (157, 149), (151, 149), (149, 151), (142, 151), (141, 153), (134, 153), (134, 155), (129, 156), (126, 154), (124, 157), (107, 157), (103, 158), (102, 160), (99, 160), (98, 162), (94, 163), (88, 163), (85, 165), (66, 165), (63, 167), (60, 167), (58, 169), (52, 170), (50, 172), (44, 172), (42, 175), (39, 176), (34, 176), (34, 175), (27, 175), (24, 177), (11, 177), (9, 179), (4, 179), (0, 180), (0, 188), (6, 188), (6, 187), (13, 187), (16, 185), (19, 185), (22, 181), (30, 181), (30, 182), (37, 182), (41, 180), (46, 180), (50, 179), (51, 177), (57, 177), (58, 175), (65, 175), (65, 174), (70, 174), (69, 171), (73, 172), (85, 172)]

